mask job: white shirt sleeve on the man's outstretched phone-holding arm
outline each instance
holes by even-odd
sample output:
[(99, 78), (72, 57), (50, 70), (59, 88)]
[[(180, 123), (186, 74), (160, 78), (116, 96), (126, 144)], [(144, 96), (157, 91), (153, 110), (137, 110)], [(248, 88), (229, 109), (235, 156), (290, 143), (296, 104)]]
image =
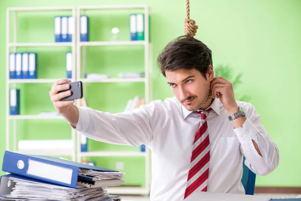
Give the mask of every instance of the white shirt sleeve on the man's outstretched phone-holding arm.
[(150, 143), (160, 116), (160, 106), (155, 102), (117, 114), (88, 107), (78, 110), (78, 123), (76, 128), (70, 125), (72, 129), (96, 141), (131, 146)]

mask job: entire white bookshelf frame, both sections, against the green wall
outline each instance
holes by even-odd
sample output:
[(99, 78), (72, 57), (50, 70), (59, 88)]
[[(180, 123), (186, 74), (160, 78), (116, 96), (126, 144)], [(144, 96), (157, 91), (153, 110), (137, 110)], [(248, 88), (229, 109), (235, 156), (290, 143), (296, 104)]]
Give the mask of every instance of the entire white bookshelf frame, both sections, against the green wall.
[[(93, 42), (80, 42), (79, 34), (79, 19), (82, 11), (87, 10), (124, 10), (124, 9), (138, 9), (139, 13), (144, 13), (144, 41), (93, 41)], [(74, 19), (74, 32), (72, 42), (39, 42), (39, 43), (26, 43), (19, 42), (17, 40), (18, 36), (18, 26), (17, 19), (18, 14), (22, 12), (41, 12), (45, 11), (71, 11)], [(11, 15), (12, 14), (12, 15)], [(49, 14), (49, 17), (54, 17), (54, 15)], [(91, 27), (93, 29), (93, 25)], [(11, 33), (13, 30), (13, 33)], [(13, 36), (11, 38), (11, 36)], [(53, 78), (37, 78), (37, 79), (10, 79), (9, 76), (9, 53), (18, 52), (20, 47), (71, 47), (72, 49), (72, 81), (81, 80), (83, 83), (91, 82), (104, 82), (104, 83), (119, 83), (119, 82), (141, 82), (144, 85), (144, 99), (145, 104), (152, 100), (152, 45), (148, 42), (148, 6), (147, 5), (114, 5), (114, 6), (82, 6), (82, 7), (36, 7), (36, 8), (9, 8), (7, 9), (7, 62), (6, 62), (6, 149), (9, 151), (20, 152), (18, 150), (18, 136), (17, 136), (17, 122), (24, 120), (62, 120), (64, 118), (61, 116), (51, 116), (51, 115), (10, 115), (10, 88), (18, 88), (20, 84), (34, 83), (34, 84), (45, 84), (54, 83), (58, 79)], [(81, 70), (85, 71), (86, 66), (81, 66), (81, 61), (86, 58), (86, 47), (88, 46), (141, 46), (144, 49), (144, 77), (140, 78), (106, 78), (100, 80), (81, 78)], [(81, 59), (82, 56), (82, 59)], [(38, 64), (41, 65), (41, 64)], [(38, 70), (43, 70), (38, 66)], [(65, 68), (65, 66), (64, 66)], [(142, 69), (141, 69), (142, 70)], [(65, 78), (65, 77), (62, 77)], [(84, 91), (85, 94), (85, 91)], [(84, 95), (85, 96), (85, 95)], [(22, 102), (22, 99), (20, 100)], [(76, 105), (79, 105), (79, 101), (76, 101)], [(124, 106), (125, 107), (125, 106)], [(43, 112), (43, 111), (41, 111)], [(11, 125), (13, 124), (13, 125)], [(145, 187), (139, 186), (120, 186), (120, 187), (109, 187), (108, 192), (111, 194), (149, 194), (150, 190), (150, 151), (145, 147), (145, 152), (140, 151), (91, 151), (91, 152), (81, 152), (80, 150), (80, 134), (76, 133), (74, 130), (70, 129), (71, 139), (73, 148), (68, 150), (46, 150), (46, 149), (29, 149), (22, 151), (20, 153), (25, 154), (36, 154), (36, 155), (52, 155), (52, 156), (71, 156), (73, 161), (81, 162), (82, 157), (143, 157), (145, 160)], [(11, 146), (13, 144), (13, 146)], [(143, 175), (141, 175), (143, 176)]]

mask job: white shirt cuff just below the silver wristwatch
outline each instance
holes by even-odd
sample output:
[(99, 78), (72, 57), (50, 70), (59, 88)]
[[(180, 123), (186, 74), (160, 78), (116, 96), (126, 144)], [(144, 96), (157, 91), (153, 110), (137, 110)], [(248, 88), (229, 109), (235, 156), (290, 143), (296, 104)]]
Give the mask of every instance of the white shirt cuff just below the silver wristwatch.
[(243, 123), (242, 128), (239, 127), (233, 130), (240, 143), (246, 143), (253, 140), (255, 135), (259, 132), (256, 126), (254, 126), (248, 118)]

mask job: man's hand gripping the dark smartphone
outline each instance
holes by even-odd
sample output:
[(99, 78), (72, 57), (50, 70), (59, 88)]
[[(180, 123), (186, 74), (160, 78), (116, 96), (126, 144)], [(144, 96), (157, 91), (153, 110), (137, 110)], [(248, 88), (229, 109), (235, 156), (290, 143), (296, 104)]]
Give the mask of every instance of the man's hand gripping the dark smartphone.
[(49, 91), (51, 102), (55, 110), (61, 115), (66, 115), (70, 106), (75, 102), (74, 100), (60, 101), (61, 98), (71, 95), (70, 90), (59, 93), (59, 91), (70, 88), (70, 85), (67, 84), (68, 82), (71, 82), (71, 80), (59, 79), (52, 85), (51, 91)]

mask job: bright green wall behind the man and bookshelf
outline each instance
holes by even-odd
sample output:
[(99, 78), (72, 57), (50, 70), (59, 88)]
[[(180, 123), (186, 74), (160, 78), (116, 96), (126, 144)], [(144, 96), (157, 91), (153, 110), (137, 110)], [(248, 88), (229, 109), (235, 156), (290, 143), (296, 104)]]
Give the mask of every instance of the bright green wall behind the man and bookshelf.
[[(154, 99), (162, 99), (172, 96), (172, 92), (166, 84), (165, 78), (160, 75), (156, 65), (156, 57), (164, 46), (172, 39), (183, 34), (183, 19), (186, 17), (185, 1), (137, 1), (137, 0), (112, 0), (108, 1), (0, 1), (0, 163), (5, 151), (5, 66), (6, 66), (6, 9), (8, 7), (39, 7), (39, 6), (81, 6), (81, 5), (120, 5), (120, 4), (147, 4), (150, 7), (150, 37), (153, 44), (153, 81)], [(299, 79), (300, 53), (301, 53), (301, 2), (300, 1), (191, 1), (191, 18), (199, 25), (196, 38), (202, 40), (213, 51), (214, 66), (229, 64), (235, 68), (235, 72), (243, 73), (243, 83), (236, 93), (248, 94), (257, 112), (261, 115), (261, 122), (266, 131), (276, 143), (280, 152), (278, 168), (267, 176), (257, 176), (257, 186), (301, 186), (299, 166), (301, 164), (299, 153), (301, 147), (301, 132), (299, 131), (298, 104), (301, 81)], [(95, 13), (91, 14), (95, 15)], [(107, 39), (104, 36), (111, 25), (122, 27), (124, 13), (113, 15), (107, 13), (109, 21), (95, 19), (93, 24), (98, 27), (91, 30), (91, 37)], [(20, 15), (21, 18), (21, 15)], [(32, 14), (22, 15), (19, 28), (27, 33), (26, 37), (19, 39), (24, 42), (51, 42), (53, 40), (53, 18), (41, 14), (39, 20)], [(48, 23), (48, 24), (47, 24)], [(34, 26), (38, 26), (34, 28)], [(104, 27), (104, 30), (101, 29)], [(36, 30), (35, 30), (36, 29)], [(126, 28), (123, 27), (124, 30)], [(36, 33), (40, 33), (37, 35)], [(93, 34), (93, 35), (92, 35)], [(127, 38), (128, 33), (120, 34)], [(98, 71), (99, 67), (105, 73), (117, 73), (116, 68), (123, 67), (126, 70), (139, 70), (143, 59), (136, 59), (135, 55), (143, 55), (138, 47), (110, 47), (88, 48), (90, 72)], [(56, 78), (64, 76), (64, 53), (68, 48), (24, 48), (20, 51), (41, 52), (39, 56), (39, 76)], [(52, 57), (50, 57), (52, 55)], [(51, 59), (51, 58), (56, 59)], [(100, 59), (103, 56), (104, 59)], [(118, 58), (118, 59), (116, 59)], [(141, 56), (142, 58), (142, 56)], [(124, 62), (123, 62), (124, 61)], [(128, 65), (124, 65), (124, 63)], [(47, 69), (47, 66), (48, 69)], [(50, 69), (50, 67), (52, 69)], [(48, 92), (51, 84), (23, 84), (22, 110), (23, 114), (36, 114), (39, 111), (53, 111)], [(120, 90), (121, 87), (121, 90)], [(135, 89), (135, 92), (130, 92)], [(111, 91), (116, 91), (112, 93)], [(29, 95), (29, 93), (31, 93)], [(143, 94), (143, 85), (93, 83), (87, 85), (87, 95), (93, 94), (95, 99), (87, 97), (88, 106), (97, 110), (108, 112), (120, 112), (124, 109), (127, 99), (133, 95)], [(112, 105), (113, 104), (113, 105)], [(112, 107), (113, 106), (113, 107)], [(52, 124), (56, 122), (56, 124)], [(20, 139), (48, 139), (68, 138), (70, 128), (64, 121), (20, 121)], [(58, 125), (55, 126), (54, 125)], [(34, 127), (34, 128), (33, 128)], [(105, 145), (89, 141), (93, 149), (111, 150), (116, 146)], [(138, 149), (121, 147), (119, 149)], [(95, 159), (95, 158), (89, 158)], [(114, 168), (114, 161), (107, 158), (95, 159), (97, 165), (106, 165)], [(127, 173), (125, 181), (130, 185), (143, 183), (143, 171), (138, 171), (138, 166), (143, 166), (141, 158), (128, 159), (117, 158), (125, 161), (124, 171)], [(134, 165), (132, 165), (134, 164)], [(140, 176), (134, 176), (137, 173)], [(3, 173), (3, 172), (2, 172)], [(142, 176), (142, 177), (141, 177)]]

